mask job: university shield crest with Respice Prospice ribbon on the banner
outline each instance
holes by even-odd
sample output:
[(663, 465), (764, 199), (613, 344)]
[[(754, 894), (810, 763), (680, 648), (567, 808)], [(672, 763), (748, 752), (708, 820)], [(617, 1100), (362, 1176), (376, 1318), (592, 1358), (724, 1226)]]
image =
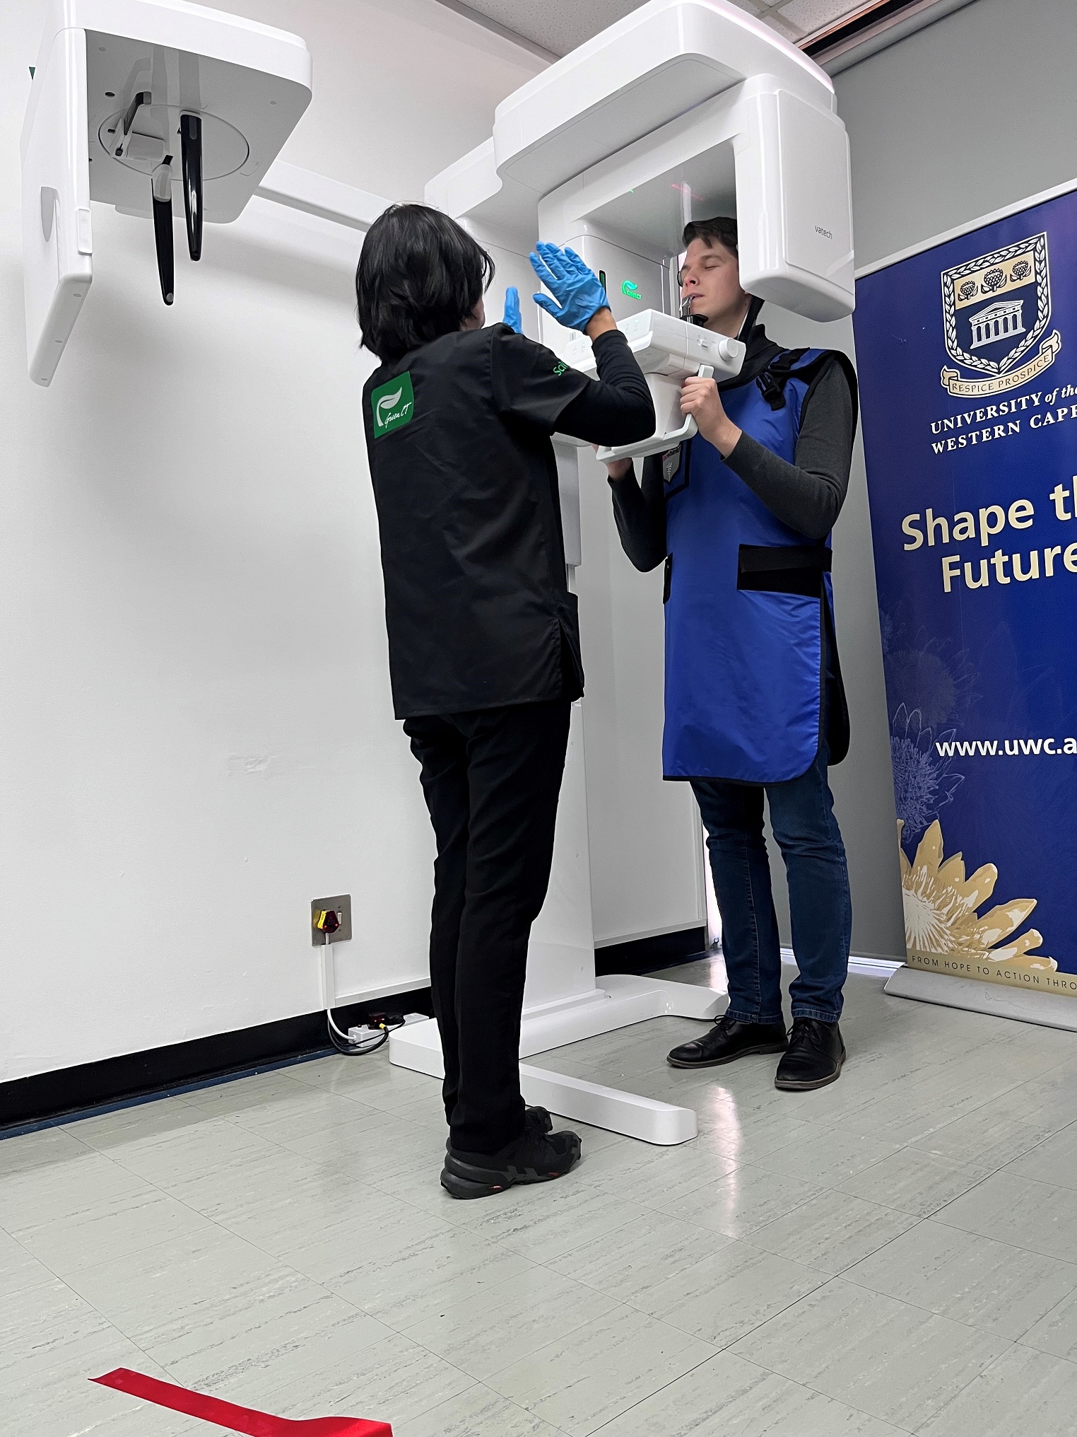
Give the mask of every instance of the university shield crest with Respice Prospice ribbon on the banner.
[[(981, 397), (1028, 384), (1054, 364), (1063, 346), (1057, 329), (1044, 339), (1050, 319), (1045, 234), (943, 270), (946, 352), (985, 378), (964, 378), (958, 369), (943, 366), (942, 387), (955, 395)], [(1037, 343), (1035, 356), (1021, 364)]]

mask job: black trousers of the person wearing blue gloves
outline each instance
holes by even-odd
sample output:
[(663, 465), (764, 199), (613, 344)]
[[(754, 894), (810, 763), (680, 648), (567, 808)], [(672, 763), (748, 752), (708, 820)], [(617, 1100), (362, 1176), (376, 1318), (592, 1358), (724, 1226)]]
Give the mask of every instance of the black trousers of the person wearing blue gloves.
[(408, 718), (438, 856), (429, 974), (454, 1148), (523, 1129), (520, 1010), (546, 898), (569, 746), (567, 698)]

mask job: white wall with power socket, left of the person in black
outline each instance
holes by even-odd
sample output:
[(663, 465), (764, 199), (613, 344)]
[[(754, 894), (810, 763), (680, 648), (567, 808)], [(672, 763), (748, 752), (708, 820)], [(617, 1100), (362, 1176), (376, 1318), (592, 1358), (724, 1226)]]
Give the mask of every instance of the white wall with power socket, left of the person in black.
[[(223, 7), (225, 9), (225, 7)], [(540, 68), (434, 0), (234, 0), (302, 33), (284, 157), (393, 198)], [(431, 836), (392, 718), (359, 392), (358, 236), (254, 201), (159, 299), (149, 224), (26, 376), (19, 132), (40, 19), (0, 3), (0, 1081), (425, 981)]]

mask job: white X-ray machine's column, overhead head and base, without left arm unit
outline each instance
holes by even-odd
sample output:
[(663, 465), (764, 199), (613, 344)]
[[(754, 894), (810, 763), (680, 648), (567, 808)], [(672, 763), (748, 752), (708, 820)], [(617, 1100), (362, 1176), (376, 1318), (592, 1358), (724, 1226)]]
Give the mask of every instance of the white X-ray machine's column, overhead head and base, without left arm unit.
[[(681, 319), (681, 234), (735, 214), (741, 283), (810, 319), (853, 310), (849, 144), (827, 75), (724, 0), (651, 0), (498, 105), (494, 134), (426, 185), (494, 256), (498, 279), (534, 290), (536, 237), (570, 244), (600, 274), (655, 398), (658, 428), (617, 456), (673, 448), (686, 375), (734, 376), (744, 345)], [(567, 364), (586, 336), (524, 306), (524, 329)], [(557, 453), (566, 558), (583, 562), (579, 450)], [(613, 457), (600, 453), (600, 458)], [(584, 700), (586, 703), (586, 700)], [(582, 704), (574, 706), (550, 894), (534, 925), (521, 1059), (661, 1015), (714, 1017), (724, 994), (659, 979), (596, 980)], [(395, 1063), (441, 1073), (435, 1025), (389, 1039)], [(556, 1068), (556, 1062), (554, 1062)], [(521, 1063), (527, 1102), (656, 1144), (695, 1137), (689, 1108)]]

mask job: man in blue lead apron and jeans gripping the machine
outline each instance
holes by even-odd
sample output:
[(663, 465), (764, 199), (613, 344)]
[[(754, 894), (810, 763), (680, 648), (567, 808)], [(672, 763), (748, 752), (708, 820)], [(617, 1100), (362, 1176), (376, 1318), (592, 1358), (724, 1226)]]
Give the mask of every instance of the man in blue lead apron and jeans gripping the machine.
[[(732, 379), (691, 378), (681, 410), (699, 433), (643, 464), (609, 466), (620, 542), (638, 569), (665, 562), (663, 773), (692, 785), (722, 918), (729, 1006), (669, 1053), (714, 1068), (781, 1053), (775, 1086), (841, 1073), (841, 990), (852, 904), (827, 782), (849, 749), (834, 641), (830, 530), (849, 484), (856, 378), (844, 355), (787, 351), (741, 287), (737, 221), (684, 231), (681, 293), (692, 319), (747, 343)], [(800, 973), (781, 1009), (781, 947), (763, 800), (781, 849)]]

